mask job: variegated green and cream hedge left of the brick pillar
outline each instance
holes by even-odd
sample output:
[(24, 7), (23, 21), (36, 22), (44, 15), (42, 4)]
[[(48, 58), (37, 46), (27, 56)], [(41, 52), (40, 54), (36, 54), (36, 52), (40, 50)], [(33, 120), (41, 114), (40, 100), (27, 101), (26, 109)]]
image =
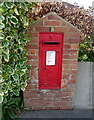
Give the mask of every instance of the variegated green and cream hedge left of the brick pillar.
[[(30, 19), (26, 17), (29, 9), (35, 3), (4, 2), (0, 3), (0, 39), (2, 46), (2, 120), (15, 119), (16, 111), (21, 109), (20, 91), (24, 91), (29, 79), (27, 72), (27, 52), (25, 45), (28, 42), (26, 29)], [(0, 75), (1, 75), (0, 74)]]

